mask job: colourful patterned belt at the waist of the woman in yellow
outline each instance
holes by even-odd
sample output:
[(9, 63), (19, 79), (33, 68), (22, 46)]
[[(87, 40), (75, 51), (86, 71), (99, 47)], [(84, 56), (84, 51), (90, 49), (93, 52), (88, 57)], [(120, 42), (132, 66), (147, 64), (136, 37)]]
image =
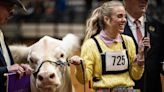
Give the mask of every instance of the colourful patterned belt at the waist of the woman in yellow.
[(114, 88), (98, 88), (96, 92), (141, 92), (140, 89), (129, 87), (114, 87)]

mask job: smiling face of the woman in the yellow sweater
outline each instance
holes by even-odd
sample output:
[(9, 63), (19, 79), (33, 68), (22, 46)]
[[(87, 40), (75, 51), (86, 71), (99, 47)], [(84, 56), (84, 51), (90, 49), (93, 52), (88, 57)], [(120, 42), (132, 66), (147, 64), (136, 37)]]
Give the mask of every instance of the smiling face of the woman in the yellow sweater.
[(109, 21), (106, 22), (112, 32), (122, 33), (126, 24), (126, 12), (123, 6), (115, 6)]

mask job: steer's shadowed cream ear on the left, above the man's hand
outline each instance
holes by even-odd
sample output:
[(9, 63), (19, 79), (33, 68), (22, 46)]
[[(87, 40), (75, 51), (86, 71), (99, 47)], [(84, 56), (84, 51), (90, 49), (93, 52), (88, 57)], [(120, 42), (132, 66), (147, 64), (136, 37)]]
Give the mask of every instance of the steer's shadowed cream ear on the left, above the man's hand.
[(30, 47), (25, 45), (11, 45), (9, 48), (15, 63), (28, 63), (27, 56), (30, 51)]

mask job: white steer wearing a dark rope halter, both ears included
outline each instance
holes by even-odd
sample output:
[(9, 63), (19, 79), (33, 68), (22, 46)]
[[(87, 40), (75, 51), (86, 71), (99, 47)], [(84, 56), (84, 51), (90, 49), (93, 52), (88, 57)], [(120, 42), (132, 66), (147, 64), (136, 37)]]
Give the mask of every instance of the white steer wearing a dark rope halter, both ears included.
[(10, 49), (16, 62), (27, 60), (34, 69), (32, 92), (74, 92), (67, 58), (79, 50), (79, 41), (73, 34), (63, 40), (45, 36), (29, 47), (11, 46)]

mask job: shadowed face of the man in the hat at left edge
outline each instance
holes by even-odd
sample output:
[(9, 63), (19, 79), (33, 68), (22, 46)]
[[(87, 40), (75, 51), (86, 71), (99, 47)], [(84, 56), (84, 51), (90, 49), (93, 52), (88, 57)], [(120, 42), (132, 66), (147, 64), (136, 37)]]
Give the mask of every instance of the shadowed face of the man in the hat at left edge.
[(0, 25), (6, 24), (12, 15), (13, 5), (0, 2)]

